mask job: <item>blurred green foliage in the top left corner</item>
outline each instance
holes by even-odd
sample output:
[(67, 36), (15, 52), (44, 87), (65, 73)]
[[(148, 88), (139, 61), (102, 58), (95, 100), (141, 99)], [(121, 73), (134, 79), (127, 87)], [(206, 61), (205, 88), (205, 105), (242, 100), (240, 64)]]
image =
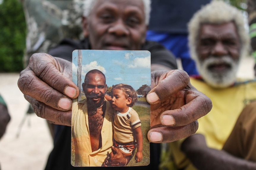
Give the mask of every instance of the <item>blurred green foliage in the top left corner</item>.
[(20, 72), (26, 48), (26, 22), (19, 0), (0, 4), (0, 72)]

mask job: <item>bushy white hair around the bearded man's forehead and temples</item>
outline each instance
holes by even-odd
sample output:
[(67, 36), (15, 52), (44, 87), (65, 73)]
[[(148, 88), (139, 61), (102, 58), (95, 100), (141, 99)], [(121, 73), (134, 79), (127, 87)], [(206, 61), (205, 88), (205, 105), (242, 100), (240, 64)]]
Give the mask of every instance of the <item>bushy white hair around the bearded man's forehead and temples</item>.
[(244, 16), (240, 10), (221, 0), (212, 0), (211, 3), (197, 11), (188, 23), (189, 49), (195, 61), (199, 62), (196, 53), (196, 44), (199, 37), (201, 24), (222, 24), (234, 22), (241, 41), (240, 59), (248, 56), (250, 47), (249, 33), (245, 29)]

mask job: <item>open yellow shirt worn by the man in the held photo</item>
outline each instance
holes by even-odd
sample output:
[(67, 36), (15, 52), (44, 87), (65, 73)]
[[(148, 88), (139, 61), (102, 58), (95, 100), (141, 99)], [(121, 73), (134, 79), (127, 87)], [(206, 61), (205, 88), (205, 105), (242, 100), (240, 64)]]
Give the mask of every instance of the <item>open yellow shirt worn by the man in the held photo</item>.
[(89, 122), (86, 99), (72, 104), (72, 137), (75, 147), (75, 164), (73, 166), (101, 166), (111, 152), (113, 145), (114, 110), (106, 101), (107, 108), (101, 129), (102, 147), (94, 152), (91, 149)]

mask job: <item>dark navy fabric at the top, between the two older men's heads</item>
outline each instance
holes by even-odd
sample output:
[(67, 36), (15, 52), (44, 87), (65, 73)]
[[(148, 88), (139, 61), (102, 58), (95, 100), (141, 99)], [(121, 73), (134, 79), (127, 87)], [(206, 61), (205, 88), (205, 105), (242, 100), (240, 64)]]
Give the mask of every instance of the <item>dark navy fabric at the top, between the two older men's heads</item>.
[(211, 0), (151, 0), (148, 30), (171, 34), (188, 33), (193, 14)]

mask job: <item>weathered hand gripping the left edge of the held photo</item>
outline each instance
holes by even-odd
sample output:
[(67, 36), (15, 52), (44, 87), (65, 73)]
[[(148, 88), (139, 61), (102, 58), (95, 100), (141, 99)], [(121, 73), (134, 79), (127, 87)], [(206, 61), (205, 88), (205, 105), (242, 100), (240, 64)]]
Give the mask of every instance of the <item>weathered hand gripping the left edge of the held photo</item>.
[(54, 124), (71, 126), (72, 98), (79, 94), (71, 79), (71, 62), (37, 53), (20, 72), (18, 87), (37, 116)]

